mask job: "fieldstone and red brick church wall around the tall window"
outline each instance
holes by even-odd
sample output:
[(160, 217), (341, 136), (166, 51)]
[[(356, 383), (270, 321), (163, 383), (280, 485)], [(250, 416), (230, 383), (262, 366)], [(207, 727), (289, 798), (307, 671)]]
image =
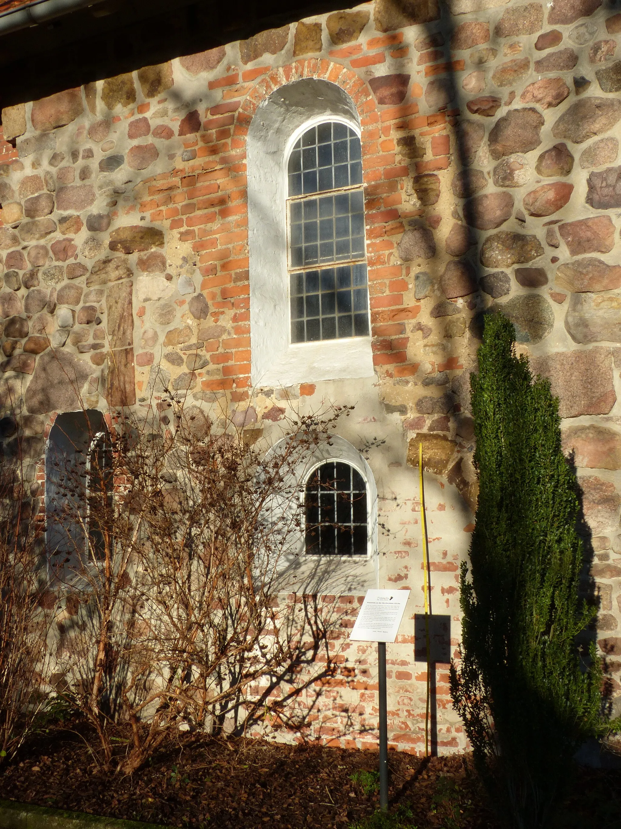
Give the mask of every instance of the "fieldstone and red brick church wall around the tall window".
[[(476, 500), (469, 372), (497, 308), (561, 400), (619, 713), (620, 32), (602, 0), (376, 0), (2, 110), (18, 158), (0, 164), (0, 396), (22, 414), (35, 491), (41, 436), (80, 399), (156, 405), (166, 423), (170, 389), (224, 406), (248, 439), (291, 410), (355, 404), (341, 434), (378, 485), (380, 586), (412, 589), (389, 652), (401, 749), (421, 749), (425, 712), (417, 447), (432, 609), (455, 650)], [(301, 77), (359, 109), (376, 376), (251, 389), (245, 138), (262, 100)], [(375, 657), (347, 642), (349, 624), (339, 673), (295, 705), (312, 708), (311, 736), (371, 745)], [(446, 668), (433, 677), (440, 752), (465, 747)]]

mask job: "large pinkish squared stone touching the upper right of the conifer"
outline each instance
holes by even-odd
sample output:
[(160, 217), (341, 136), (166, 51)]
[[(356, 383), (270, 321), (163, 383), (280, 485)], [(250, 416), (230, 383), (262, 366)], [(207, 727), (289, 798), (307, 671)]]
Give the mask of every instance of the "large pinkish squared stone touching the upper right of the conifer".
[(559, 398), (561, 418), (608, 414), (617, 400), (609, 348), (557, 351), (532, 357), (531, 365), (534, 374), (551, 381), (551, 392)]

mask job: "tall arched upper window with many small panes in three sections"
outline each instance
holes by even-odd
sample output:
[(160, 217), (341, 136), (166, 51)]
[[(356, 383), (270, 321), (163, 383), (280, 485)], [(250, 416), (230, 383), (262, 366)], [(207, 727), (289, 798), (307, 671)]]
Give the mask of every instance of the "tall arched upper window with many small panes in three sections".
[(311, 127), (291, 151), (291, 342), (368, 336), (362, 182), (360, 139), (345, 124)]

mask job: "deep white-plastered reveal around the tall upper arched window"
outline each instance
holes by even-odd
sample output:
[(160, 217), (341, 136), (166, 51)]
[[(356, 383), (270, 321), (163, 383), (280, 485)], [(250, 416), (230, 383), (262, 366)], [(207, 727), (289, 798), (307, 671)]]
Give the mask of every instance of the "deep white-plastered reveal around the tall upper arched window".
[[(353, 330), (352, 336), (339, 337), (337, 330), (334, 338), (312, 342), (299, 342), (299, 336), (295, 342), (296, 337), (291, 334), (291, 273), (296, 271), (297, 263), (291, 261), (288, 239), (287, 208), (291, 209), (288, 163), (296, 142), (306, 130), (330, 123), (342, 124), (355, 136), (360, 135), (358, 112), (344, 90), (329, 81), (303, 79), (282, 86), (264, 100), (248, 130), (253, 385), (286, 386), (373, 376), (368, 333), (356, 336)], [(359, 259), (362, 262), (365, 256)], [(366, 265), (363, 267), (366, 284)], [(300, 274), (302, 270), (302, 267), (298, 269)], [(352, 279), (358, 276), (352, 274)], [(353, 302), (355, 293), (353, 290)]]

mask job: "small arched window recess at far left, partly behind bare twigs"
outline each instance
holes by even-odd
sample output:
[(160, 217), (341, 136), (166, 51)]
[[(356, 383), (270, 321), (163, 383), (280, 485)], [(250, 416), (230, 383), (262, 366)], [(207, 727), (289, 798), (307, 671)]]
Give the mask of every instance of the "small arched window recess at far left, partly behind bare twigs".
[(59, 414), (46, 449), (46, 545), (53, 570), (103, 559), (112, 507), (111, 445), (103, 414)]

